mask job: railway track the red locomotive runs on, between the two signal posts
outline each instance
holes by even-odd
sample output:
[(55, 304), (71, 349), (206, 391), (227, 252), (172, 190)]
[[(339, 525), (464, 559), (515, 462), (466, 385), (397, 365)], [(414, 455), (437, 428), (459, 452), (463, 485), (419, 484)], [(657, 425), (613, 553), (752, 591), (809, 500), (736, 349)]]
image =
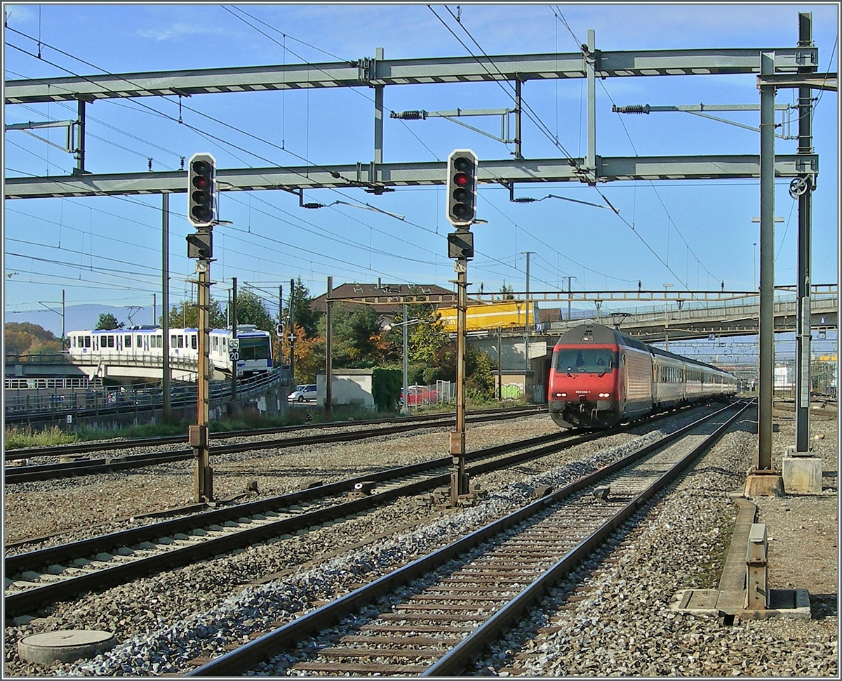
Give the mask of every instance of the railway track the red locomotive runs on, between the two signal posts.
[[(613, 432), (616, 431), (578, 436), (557, 432), (478, 450), (468, 454), (468, 472), (480, 475)], [(355, 517), (401, 496), (449, 485), (451, 467), (450, 456), (436, 458), (269, 499), (9, 555), (4, 559), (6, 614), (33, 612), (77, 593), (99, 591), (322, 523)]]

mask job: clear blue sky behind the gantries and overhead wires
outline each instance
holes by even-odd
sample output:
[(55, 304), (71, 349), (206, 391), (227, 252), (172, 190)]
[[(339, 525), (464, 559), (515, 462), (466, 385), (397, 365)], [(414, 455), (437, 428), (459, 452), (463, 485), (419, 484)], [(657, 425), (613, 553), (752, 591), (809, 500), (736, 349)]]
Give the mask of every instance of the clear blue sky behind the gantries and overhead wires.
[[(456, 5), (447, 8), (456, 13)], [(836, 4), (653, 4), (555, 5), (584, 42), (588, 29), (605, 51), (703, 47), (793, 47), (797, 13), (813, 12), (819, 70), (836, 71), (839, 31)], [(242, 9), (251, 17), (237, 11)], [(467, 44), (466, 33), (444, 5), (434, 5)], [(466, 49), (424, 4), (172, 5), (7, 4), (5, 78), (39, 78), (100, 72), (141, 72), (201, 67), (239, 67), (298, 62), (356, 61), (383, 47), (386, 59), (466, 56)], [(489, 55), (573, 52), (571, 31), (546, 4), (462, 4), (461, 24)], [(242, 21), (257, 25), (270, 40)], [(270, 28), (271, 27), (271, 28)], [(26, 37), (29, 36), (29, 37)], [(42, 41), (41, 55), (33, 55)], [(35, 40), (32, 40), (35, 39)], [(303, 44), (301, 41), (308, 43)], [(67, 53), (61, 54), (59, 50)], [(286, 49), (285, 49), (286, 48)], [(72, 55), (67, 56), (67, 55)], [(77, 60), (84, 60), (84, 64)], [(57, 65), (52, 66), (52, 64)], [(91, 66), (93, 65), (93, 66)], [(66, 69), (66, 70), (62, 70)], [(603, 88), (604, 86), (604, 88)], [(585, 153), (584, 80), (529, 82), (525, 101), (573, 156)], [(826, 92), (813, 120), (819, 154), (818, 190), (813, 195), (813, 282), (838, 281), (838, 98)], [(792, 103), (781, 90), (777, 103)], [(759, 133), (679, 113), (620, 116), (611, 104), (757, 104), (754, 76), (609, 78), (597, 87), (597, 153), (603, 156), (759, 153)], [(156, 115), (144, 106), (163, 112)], [(286, 93), (197, 95), (186, 105), (228, 126), (184, 110), (184, 121), (225, 141), (201, 137), (171, 118), (178, 101), (143, 98), (103, 100), (88, 107), (87, 169), (94, 173), (178, 169), (180, 157), (213, 153), (220, 168), (313, 164), (368, 164), (373, 158), (373, 91), (338, 88)], [(392, 86), (386, 110), (505, 108), (512, 102), (494, 83)], [(7, 105), (5, 122), (67, 120), (75, 105)], [(757, 126), (758, 112), (726, 113)], [(498, 119), (474, 119), (498, 133)], [(258, 137), (248, 137), (242, 131)], [(797, 133), (793, 122), (792, 134)], [(63, 143), (64, 132), (45, 137)], [(470, 147), (482, 159), (509, 158), (512, 145), (495, 142), (448, 121), (386, 118), (384, 160), (444, 160), (456, 147)], [(524, 123), (526, 158), (557, 157), (557, 149), (531, 122)], [(236, 145), (232, 146), (232, 145)], [(237, 148), (240, 147), (240, 148)], [(776, 141), (777, 153), (795, 153), (797, 142)], [(5, 174), (68, 174), (72, 156), (20, 131), (5, 135)], [(789, 180), (776, 183), (775, 283), (793, 284), (796, 274), (797, 208)], [(525, 288), (525, 251), (533, 291), (718, 288), (757, 286), (759, 263), (753, 244), (759, 226), (757, 180), (608, 183), (600, 186), (635, 231), (608, 210), (568, 201), (509, 202), (508, 191), (482, 185), (474, 228), (477, 257), (469, 281), (486, 292), (505, 283)], [(548, 193), (600, 202), (593, 188), (573, 183), (518, 185), (516, 196)], [(175, 303), (189, 296), (193, 261), (184, 236), (193, 231), (184, 213), (186, 195), (170, 208), (171, 289)], [(215, 229), (212, 294), (225, 299), (236, 276), (269, 299), (279, 284), (301, 276), (313, 295), (328, 276), (342, 282), (434, 283), (450, 287), (446, 257), (444, 189), (399, 189), (383, 196), (362, 190), (313, 190), (306, 201), (369, 202), (405, 221), (344, 205), (319, 210), (298, 206), (282, 191), (226, 192), (221, 215), (230, 227)], [(67, 304), (101, 303), (160, 309), (161, 200), (159, 196), (31, 199), (5, 201), (3, 276), (7, 319), (15, 312), (43, 309), (66, 292)], [(645, 242), (645, 243), (643, 243)], [(651, 249), (651, 250), (650, 250)], [(656, 258), (658, 254), (668, 266)], [(53, 305), (53, 307), (55, 307)], [(604, 308), (604, 311), (606, 308)], [(147, 319), (141, 313), (139, 318)]]

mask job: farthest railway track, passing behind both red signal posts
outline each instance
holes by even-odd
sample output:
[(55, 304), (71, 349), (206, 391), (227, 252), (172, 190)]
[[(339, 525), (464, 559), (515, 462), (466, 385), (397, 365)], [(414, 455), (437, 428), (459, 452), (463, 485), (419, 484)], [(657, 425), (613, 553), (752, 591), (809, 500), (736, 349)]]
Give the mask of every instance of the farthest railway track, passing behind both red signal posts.
[[(517, 410), (494, 410), (491, 412), (480, 412), (466, 417), (468, 423), (482, 423), (483, 421), (498, 421), (504, 419), (520, 418), (530, 414), (540, 414), (546, 409), (536, 409), (534, 407)], [(285, 428), (268, 428), (258, 431), (241, 431), (230, 433), (215, 433), (211, 439), (229, 439), (232, 437), (248, 437), (267, 435), (275, 433), (292, 433), (290, 437), (279, 437), (273, 440), (264, 440), (262, 442), (241, 442), (237, 444), (219, 445), (210, 448), (211, 455), (221, 455), (228, 453), (248, 452), (252, 449), (263, 448), (285, 448), (285, 447), (299, 447), (311, 444), (324, 444), (328, 442), (348, 442), (349, 440), (365, 439), (366, 437), (380, 437), (382, 435), (392, 435), (399, 432), (408, 432), (418, 430), (420, 428), (429, 428), (435, 426), (450, 426), (453, 421), (452, 415), (445, 416), (418, 416), (409, 417), (411, 422), (407, 422), (407, 418), (397, 420), (392, 426), (371, 427), (359, 431), (348, 431), (349, 425), (344, 423), (330, 423), (321, 426), (321, 429), (337, 432), (322, 432), (317, 435), (309, 435), (303, 437), (296, 437), (295, 432), (303, 428), (312, 428), (317, 426), (292, 426)], [(384, 421), (355, 421), (354, 425), (375, 425), (382, 424)], [(390, 422), (390, 421), (386, 421)], [(39, 448), (27, 449), (20, 451), (13, 451), (6, 453), (6, 460), (14, 459), (28, 459), (44, 456), (83, 456), (87, 453), (98, 451), (109, 451), (138, 448), (138, 447), (159, 447), (168, 444), (184, 443), (183, 436), (177, 437), (157, 437), (145, 438), (143, 440), (134, 440), (131, 442), (96, 442), (86, 443), (83, 445), (62, 445), (55, 448)], [(96, 473), (109, 473), (115, 470), (141, 468), (143, 466), (169, 464), (175, 461), (185, 461), (193, 458), (193, 449), (184, 448), (178, 450), (152, 452), (141, 454), (124, 454), (120, 456), (107, 456), (104, 458), (78, 458), (76, 460), (68, 461), (66, 463), (51, 463), (51, 464), (37, 464), (26, 466), (7, 466), (5, 469), (5, 481), (8, 484), (21, 482), (35, 482), (37, 480), (56, 480), (59, 478), (71, 475), (93, 475)]]

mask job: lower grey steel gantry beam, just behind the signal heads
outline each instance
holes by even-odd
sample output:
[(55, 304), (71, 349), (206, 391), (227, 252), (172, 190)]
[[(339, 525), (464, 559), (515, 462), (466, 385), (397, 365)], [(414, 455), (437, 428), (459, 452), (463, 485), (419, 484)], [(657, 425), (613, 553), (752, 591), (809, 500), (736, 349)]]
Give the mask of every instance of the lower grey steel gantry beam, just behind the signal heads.
[[(760, 172), (759, 158), (750, 154), (597, 157), (597, 160), (600, 181), (733, 180), (757, 178)], [(479, 165), (479, 181), (504, 185), (512, 182), (579, 181), (581, 173), (576, 172), (577, 164), (582, 163), (581, 158), (573, 159), (572, 162), (564, 158), (482, 161)], [(217, 169), (216, 185), (221, 191), (444, 185), (445, 165), (445, 162), (431, 161)], [(791, 154), (775, 157), (776, 176), (791, 178), (805, 173), (818, 173), (818, 156)], [(187, 190), (187, 171), (7, 177), (5, 183), (5, 196), (8, 199), (180, 193)]]

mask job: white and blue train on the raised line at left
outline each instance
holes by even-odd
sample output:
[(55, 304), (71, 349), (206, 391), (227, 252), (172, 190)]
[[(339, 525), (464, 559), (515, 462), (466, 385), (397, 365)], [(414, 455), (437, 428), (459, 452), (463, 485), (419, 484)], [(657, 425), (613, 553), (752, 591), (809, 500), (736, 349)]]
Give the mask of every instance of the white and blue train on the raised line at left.
[[(232, 330), (211, 329), (208, 357), (221, 373), (232, 371)], [(272, 368), (272, 338), (253, 324), (237, 325), (237, 373), (248, 375)], [(127, 329), (70, 331), (68, 352), (78, 360), (102, 359), (119, 363), (143, 362), (163, 355), (163, 329), (160, 326), (131, 326)], [(198, 329), (170, 329), (169, 357), (173, 363), (195, 362), (199, 357)]]

